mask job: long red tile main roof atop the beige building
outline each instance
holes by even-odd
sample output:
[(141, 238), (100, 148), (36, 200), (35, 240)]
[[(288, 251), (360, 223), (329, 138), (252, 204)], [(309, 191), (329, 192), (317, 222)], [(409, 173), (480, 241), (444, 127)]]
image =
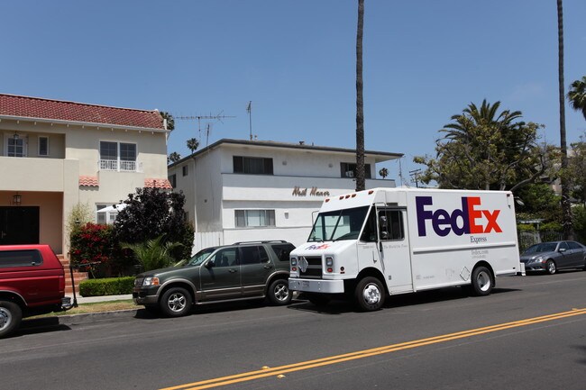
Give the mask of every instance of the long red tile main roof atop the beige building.
[(0, 94), (0, 115), (164, 130), (163, 119), (156, 110), (108, 107), (41, 97)]

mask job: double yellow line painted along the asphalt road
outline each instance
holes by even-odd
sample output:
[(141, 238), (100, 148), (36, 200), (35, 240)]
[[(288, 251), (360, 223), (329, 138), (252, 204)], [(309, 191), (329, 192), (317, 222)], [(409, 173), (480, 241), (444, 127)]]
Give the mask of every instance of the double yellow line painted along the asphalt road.
[(245, 372), (242, 374), (236, 374), (233, 376), (222, 376), (215, 379), (207, 379), (200, 382), (193, 382), (185, 385), (177, 385), (173, 387), (166, 387), (160, 390), (201, 390), (210, 387), (218, 387), (223, 385), (233, 385), (235, 383), (252, 381), (267, 376), (279, 376), (288, 374), (290, 372), (300, 371), (309, 368), (328, 366), (336, 363), (342, 363), (344, 361), (355, 360), (359, 358), (369, 358), (371, 356), (382, 355), (385, 353), (395, 352), (402, 349), (412, 349), (417, 347), (423, 347), (430, 344), (437, 344), (439, 342), (445, 342), (450, 340), (464, 339), (467, 337), (478, 336), (481, 334), (491, 333), (494, 331), (504, 331), (506, 329), (518, 328), (521, 326), (533, 325), (540, 322), (548, 322), (554, 320), (560, 320), (567, 317), (573, 317), (575, 315), (586, 314), (586, 309), (573, 309), (569, 312), (555, 313), (544, 315), (541, 317), (528, 318), (526, 320), (520, 320), (515, 322), (501, 323), (499, 325), (491, 325), (484, 328), (472, 329), (469, 331), (458, 331), (455, 333), (444, 334), (442, 336), (430, 337), (427, 339), (413, 340), (407, 342), (401, 342), (398, 344), (387, 345), (384, 347), (378, 347), (373, 349), (364, 349), (356, 352), (345, 353), (343, 355), (336, 355), (329, 358), (317, 358), (315, 360), (308, 360), (300, 363), (289, 364), (286, 366), (279, 367), (267, 367), (257, 371)]

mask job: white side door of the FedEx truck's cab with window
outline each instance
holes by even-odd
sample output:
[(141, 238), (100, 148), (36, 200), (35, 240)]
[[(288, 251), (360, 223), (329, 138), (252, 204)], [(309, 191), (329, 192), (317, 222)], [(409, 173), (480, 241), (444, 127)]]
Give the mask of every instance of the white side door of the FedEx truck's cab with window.
[(390, 294), (413, 291), (411, 250), (407, 234), (407, 209), (377, 208), (380, 260)]

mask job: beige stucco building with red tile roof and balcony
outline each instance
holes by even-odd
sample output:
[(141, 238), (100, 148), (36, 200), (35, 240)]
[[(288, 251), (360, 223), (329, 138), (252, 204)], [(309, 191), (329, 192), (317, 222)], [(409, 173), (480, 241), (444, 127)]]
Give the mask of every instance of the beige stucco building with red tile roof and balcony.
[(76, 204), (97, 212), (137, 187), (169, 189), (168, 136), (156, 110), (0, 94), (0, 245), (64, 254)]

